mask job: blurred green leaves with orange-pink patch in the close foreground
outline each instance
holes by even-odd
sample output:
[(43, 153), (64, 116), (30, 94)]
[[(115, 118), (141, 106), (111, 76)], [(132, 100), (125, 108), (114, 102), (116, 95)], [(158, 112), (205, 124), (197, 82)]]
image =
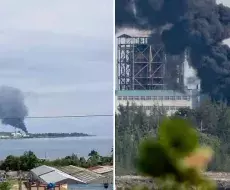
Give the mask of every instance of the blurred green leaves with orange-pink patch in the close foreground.
[(202, 173), (212, 155), (212, 149), (199, 146), (197, 131), (187, 121), (172, 119), (162, 123), (157, 138), (142, 141), (137, 165), (160, 189), (215, 190)]

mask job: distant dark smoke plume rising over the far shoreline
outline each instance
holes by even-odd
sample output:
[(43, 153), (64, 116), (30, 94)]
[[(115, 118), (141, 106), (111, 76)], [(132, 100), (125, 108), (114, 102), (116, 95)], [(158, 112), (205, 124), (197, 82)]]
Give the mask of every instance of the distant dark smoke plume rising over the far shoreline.
[(21, 91), (8, 86), (0, 87), (0, 119), (2, 123), (27, 133), (24, 123), (27, 114), (28, 110)]

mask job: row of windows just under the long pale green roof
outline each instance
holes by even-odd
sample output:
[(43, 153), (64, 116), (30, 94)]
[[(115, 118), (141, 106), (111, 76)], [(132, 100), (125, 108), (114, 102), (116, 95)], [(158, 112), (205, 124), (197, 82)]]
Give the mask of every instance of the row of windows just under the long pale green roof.
[(118, 100), (190, 100), (190, 96), (118, 96)]

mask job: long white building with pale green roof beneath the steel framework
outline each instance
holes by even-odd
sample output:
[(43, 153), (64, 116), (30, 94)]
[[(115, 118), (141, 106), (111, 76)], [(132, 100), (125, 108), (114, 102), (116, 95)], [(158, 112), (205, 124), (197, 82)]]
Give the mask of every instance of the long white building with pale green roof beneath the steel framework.
[(168, 115), (172, 115), (179, 108), (194, 109), (199, 105), (197, 93), (188, 90), (186, 93), (173, 90), (123, 90), (116, 91), (116, 108), (127, 103), (143, 106), (150, 112), (153, 108), (163, 108)]

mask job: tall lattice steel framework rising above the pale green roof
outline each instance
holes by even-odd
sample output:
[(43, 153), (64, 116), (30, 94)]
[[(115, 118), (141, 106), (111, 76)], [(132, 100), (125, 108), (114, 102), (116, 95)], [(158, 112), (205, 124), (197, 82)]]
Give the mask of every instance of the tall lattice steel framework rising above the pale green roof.
[(148, 44), (148, 37), (118, 37), (119, 90), (165, 89), (165, 53), (162, 46)]

